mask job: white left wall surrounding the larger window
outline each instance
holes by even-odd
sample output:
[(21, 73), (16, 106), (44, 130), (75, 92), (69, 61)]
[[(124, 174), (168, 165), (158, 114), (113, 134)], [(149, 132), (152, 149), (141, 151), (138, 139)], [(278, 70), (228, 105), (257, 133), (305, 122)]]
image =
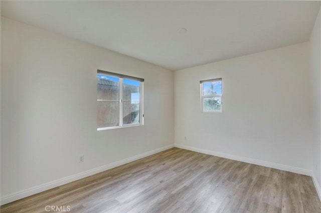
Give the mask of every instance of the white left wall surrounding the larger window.
[[(1, 56), (2, 197), (174, 144), (173, 71), (4, 17)], [(97, 131), (97, 69), (145, 79), (145, 125)]]

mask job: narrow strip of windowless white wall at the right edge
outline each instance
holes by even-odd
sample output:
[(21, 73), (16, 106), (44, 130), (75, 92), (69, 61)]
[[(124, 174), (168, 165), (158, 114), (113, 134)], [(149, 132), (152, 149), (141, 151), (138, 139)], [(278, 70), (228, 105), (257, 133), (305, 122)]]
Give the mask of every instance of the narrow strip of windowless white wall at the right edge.
[(321, 7), (310, 37), (313, 175), (321, 196)]

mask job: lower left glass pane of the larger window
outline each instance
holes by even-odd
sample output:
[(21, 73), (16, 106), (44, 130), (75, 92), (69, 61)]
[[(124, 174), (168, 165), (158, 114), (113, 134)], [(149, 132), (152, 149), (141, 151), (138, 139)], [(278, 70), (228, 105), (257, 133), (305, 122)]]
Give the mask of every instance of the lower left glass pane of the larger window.
[(119, 125), (119, 101), (98, 100), (97, 127)]

